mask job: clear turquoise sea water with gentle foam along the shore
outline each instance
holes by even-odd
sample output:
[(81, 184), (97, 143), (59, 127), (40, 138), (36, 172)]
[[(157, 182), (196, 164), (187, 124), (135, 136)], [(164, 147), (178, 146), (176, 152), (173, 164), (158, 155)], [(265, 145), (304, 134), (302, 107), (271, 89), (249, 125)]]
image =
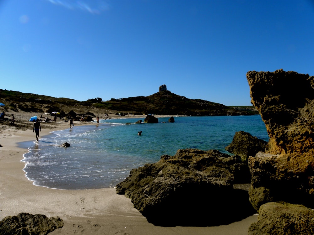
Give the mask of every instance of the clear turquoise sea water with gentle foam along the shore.
[[(268, 141), (260, 115), (174, 117), (174, 123), (159, 118), (159, 123), (135, 124), (144, 118), (100, 120), (97, 125), (53, 131), (30, 143), (22, 160), (26, 177), (35, 185), (57, 189), (115, 187), (133, 168), (157, 162), (164, 154), (174, 155), (178, 149), (228, 153), (225, 147), (237, 131)], [(64, 142), (71, 146), (60, 147)]]

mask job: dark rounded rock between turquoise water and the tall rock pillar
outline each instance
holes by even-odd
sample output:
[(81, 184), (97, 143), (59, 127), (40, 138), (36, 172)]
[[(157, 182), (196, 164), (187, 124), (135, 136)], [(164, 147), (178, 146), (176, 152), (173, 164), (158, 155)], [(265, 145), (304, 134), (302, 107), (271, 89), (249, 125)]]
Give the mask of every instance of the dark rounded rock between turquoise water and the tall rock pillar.
[(264, 152), (266, 145), (266, 141), (252, 136), (250, 133), (239, 131), (225, 149), (232, 154), (239, 155), (242, 161), (247, 162), (249, 156), (255, 157), (257, 152)]

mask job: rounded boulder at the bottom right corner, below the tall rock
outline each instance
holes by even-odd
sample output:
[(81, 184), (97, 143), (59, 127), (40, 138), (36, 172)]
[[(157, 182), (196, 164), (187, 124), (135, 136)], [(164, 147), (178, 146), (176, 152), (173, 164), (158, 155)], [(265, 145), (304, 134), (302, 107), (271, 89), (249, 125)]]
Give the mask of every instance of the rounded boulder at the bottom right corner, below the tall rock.
[(302, 205), (269, 202), (259, 209), (258, 221), (249, 227), (249, 235), (314, 234), (314, 211)]

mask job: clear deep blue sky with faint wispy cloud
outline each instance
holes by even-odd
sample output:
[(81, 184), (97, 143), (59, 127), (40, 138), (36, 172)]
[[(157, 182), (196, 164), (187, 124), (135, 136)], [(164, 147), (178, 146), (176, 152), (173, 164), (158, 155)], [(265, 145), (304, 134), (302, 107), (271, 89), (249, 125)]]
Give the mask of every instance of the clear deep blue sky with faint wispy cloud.
[(314, 76), (313, 0), (0, 0), (1, 89), (251, 105), (281, 68)]

